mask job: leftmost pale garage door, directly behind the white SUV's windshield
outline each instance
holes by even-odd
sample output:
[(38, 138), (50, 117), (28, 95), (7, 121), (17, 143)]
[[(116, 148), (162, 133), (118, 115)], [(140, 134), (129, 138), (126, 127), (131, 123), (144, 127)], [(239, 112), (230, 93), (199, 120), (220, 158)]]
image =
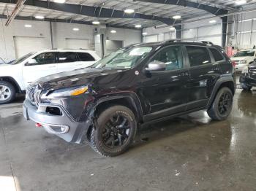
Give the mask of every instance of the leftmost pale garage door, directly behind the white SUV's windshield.
[(44, 37), (13, 36), (13, 40), (16, 58), (20, 58), (29, 52), (37, 52), (50, 48), (50, 42)]

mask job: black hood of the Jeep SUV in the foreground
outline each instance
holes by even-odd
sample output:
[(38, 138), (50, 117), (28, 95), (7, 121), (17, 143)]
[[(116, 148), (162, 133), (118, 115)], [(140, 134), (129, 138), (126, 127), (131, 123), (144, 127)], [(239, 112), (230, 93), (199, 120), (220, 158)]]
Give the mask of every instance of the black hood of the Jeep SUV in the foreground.
[(34, 84), (38, 84), (43, 90), (58, 90), (65, 87), (88, 85), (95, 77), (106, 76), (116, 72), (116, 70), (104, 69), (77, 69), (42, 77)]

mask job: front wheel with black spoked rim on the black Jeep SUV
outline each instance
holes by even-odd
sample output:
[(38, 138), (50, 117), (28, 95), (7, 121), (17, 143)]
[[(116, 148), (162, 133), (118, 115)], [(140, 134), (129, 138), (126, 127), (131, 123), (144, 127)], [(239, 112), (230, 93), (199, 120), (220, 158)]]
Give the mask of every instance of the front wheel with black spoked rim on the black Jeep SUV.
[(91, 130), (90, 145), (100, 155), (113, 157), (125, 152), (137, 132), (137, 121), (126, 106), (105, 109)]

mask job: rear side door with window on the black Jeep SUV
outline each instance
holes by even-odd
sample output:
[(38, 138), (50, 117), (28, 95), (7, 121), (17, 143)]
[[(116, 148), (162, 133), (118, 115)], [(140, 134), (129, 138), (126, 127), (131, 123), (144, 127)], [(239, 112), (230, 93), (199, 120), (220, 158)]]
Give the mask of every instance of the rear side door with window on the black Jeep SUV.
[(198, 109), (208, 103), (221, 71), (208, 47), (187, 45), (186, 50), (190, 66), (187, 110)]

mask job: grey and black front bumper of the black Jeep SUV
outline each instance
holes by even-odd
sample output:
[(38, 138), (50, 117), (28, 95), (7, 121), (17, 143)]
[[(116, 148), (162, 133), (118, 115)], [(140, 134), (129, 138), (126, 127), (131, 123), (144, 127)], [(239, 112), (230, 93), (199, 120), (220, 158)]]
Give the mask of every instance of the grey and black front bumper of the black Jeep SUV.
[[(46, 112), (48, 107), (58, 107), (61, 114), (55, 115)], [(38, 122), (48, 133), (55, 134), (68, 142), (80, 143), (84, 141), (87, 138), (87, 130), (91, 125), (91, 120), (75, 122), (62, 106), (39, 104), (37, 107), (27, 99), (23, 103), (23, 115), (26, 120)]]

